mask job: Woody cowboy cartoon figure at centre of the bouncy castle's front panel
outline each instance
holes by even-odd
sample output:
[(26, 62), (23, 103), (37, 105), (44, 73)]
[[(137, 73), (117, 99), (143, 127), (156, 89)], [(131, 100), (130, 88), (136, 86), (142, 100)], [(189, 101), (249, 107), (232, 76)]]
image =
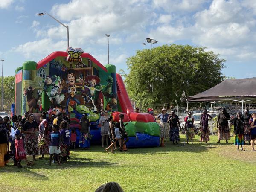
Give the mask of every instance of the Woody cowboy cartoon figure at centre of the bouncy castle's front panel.
[(67, 70), (67, 84), (68, 84), (68, 98), (66, 102), (66, 111), (68, 112), (68, 105), (70, 100), (75, 101), (78, 105), (80, 105), (80, 102), (78, 99), (75, 98), (76, 96), (76, 88), (84, 89), (84, 80), (82, 78), (79, 78), (79, 82), (81, 83), (81, 86), (75, 85), (76, 81), (76, 71), (74, 69), (68, 69)]

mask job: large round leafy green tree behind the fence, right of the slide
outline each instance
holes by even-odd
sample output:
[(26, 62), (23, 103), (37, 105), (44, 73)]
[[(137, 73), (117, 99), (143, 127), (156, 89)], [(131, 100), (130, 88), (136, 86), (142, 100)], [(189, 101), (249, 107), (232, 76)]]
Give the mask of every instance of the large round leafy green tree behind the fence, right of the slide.
[(220, 83), (224, 59), (204, 47), (163, 45), (137, 51), (127, 59), (125, 84), (131, 99), (144, 105), (169, 103)]

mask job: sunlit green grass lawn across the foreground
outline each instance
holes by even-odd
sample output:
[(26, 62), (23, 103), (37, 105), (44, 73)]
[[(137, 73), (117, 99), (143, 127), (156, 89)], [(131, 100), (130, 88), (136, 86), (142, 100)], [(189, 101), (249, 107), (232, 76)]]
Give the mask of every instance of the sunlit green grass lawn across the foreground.
[(216, 136), (210, 139), (200, 144), (196, 137), (193, 145), (185, 146), (168, 141), (164, 148), (116, 154), (91, 146), (71, 151), (67, 164), (51, 167), (47, 155), (32, 167), (0, 168), (0, 191), (94, 191), (109, 181), (118, 182), (125, 192), (256, 191), (256, 152), (250, 145), (244, 147), (248, 151), (236, 151), (233, 137), (229, 144), (216, 144)]

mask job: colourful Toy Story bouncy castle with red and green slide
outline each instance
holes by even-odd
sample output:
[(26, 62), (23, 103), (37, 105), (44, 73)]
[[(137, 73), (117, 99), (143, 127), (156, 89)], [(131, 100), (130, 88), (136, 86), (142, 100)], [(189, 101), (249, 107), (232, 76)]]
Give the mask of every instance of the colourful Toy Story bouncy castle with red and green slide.
[[(82, 49), (68, 47), (39, 62), (26, 61), (15, 71), (15, 114), (65, 110), (72, 126), (83, 113), (91, 121), (91, 143), (100, 143), (99, 118), (109, 111), (115, 122), (124, 113), (130, 140), (127, 147), (159, 146), (160, 127), (148, 113), (135, 113), (115, 65), (103, 66)], [(79, 141), (79, 139), (78, 139)]]

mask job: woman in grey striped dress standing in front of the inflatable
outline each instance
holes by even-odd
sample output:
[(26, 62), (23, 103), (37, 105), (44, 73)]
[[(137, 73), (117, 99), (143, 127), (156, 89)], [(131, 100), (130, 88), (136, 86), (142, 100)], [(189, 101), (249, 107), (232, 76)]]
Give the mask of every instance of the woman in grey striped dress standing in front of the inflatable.
[(106, 145), (108, 147), (108, 129), (109, 129), (109, 116), (108, 111), (104, 111), (104, 115), (99, 119), (99, 124), (101, 125), (100, 134), (102, 136), (102, 147), (104, 147), (104, 141), (106, 140)]

